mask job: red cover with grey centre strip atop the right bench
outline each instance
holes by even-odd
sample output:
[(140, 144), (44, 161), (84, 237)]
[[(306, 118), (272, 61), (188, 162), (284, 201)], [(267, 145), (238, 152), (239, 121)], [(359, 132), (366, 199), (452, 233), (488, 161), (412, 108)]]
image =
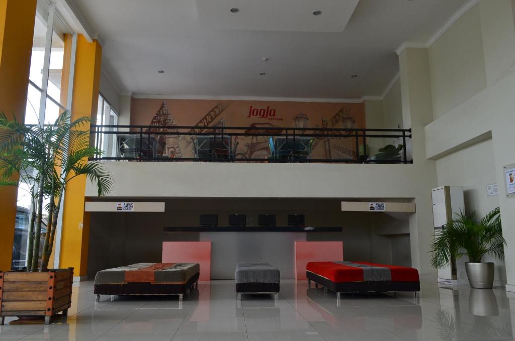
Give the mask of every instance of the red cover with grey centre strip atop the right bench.
[(306, 272), (327, 278), (335, 283), (419, 281), (419, 274), (415, 268), (370, 262), (310, 262), (306, 265)]

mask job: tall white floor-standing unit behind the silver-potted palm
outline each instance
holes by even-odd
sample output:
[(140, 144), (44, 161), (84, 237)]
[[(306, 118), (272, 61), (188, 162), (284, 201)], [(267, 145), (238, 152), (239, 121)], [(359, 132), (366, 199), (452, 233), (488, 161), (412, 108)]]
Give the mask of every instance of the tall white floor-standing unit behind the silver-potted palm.
[[(433, 198), (433, 226), (437, 236), (442, 225), (456, 218), (455, 213), (465, 210), (463, 188), (461, 186), (442, 186), (431, 191)], [(453, 266), (454, 265), (454, 266)], [(464, 264), (451, 264), (438, 269), (438, 279), (461, 284), (466, 280)]]

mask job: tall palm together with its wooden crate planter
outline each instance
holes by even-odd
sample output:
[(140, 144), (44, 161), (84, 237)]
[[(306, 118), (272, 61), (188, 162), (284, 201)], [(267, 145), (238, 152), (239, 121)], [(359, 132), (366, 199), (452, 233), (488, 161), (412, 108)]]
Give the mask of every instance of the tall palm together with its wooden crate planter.
[[(5, 316), (45, 316), (49, 323), (56, 313), (66, 315), (70, 308), (73, 268), (48, 269), (63, 194), (67, 184), (79, 176), (95, 182), (98, 195), (108, 193), (112, 186), (109, 171), (100, 163), (88, 162), (99, 154), (90, 146), (89, 122), (87, 117), (71, 121), (64, 112), (54, 124), (42, 128), (0, 114), (0, 186), (24, 183), (33, 206), (26, 271), (0, 271), (2, 324)], [(41, 247), (45, 210), (48, 227)]]

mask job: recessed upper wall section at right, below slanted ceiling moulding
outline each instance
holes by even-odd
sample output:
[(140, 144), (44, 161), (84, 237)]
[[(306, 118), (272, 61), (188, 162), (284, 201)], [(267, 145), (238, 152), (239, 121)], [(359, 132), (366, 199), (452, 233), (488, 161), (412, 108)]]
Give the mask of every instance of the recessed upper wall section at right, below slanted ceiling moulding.
[(461, 15), (428, 50), (436, 119), (486, 86), (479, 5)]

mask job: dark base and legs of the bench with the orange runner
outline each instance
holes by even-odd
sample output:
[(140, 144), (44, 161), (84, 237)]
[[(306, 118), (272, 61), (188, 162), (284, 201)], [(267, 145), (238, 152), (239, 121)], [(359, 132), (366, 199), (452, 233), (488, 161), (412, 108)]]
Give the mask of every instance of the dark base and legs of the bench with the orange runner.
[(95, 284), (93, 293), (96, 295), (95, 301), (100, 301), (100, 295), (178, 295), (182, 301), (183, 295), (188, 291), (198, 289), (198, 279), (200, 273), (196, 273), (192, 278), (183, 284), (167, 283), (122, 283), (122, 284)]

